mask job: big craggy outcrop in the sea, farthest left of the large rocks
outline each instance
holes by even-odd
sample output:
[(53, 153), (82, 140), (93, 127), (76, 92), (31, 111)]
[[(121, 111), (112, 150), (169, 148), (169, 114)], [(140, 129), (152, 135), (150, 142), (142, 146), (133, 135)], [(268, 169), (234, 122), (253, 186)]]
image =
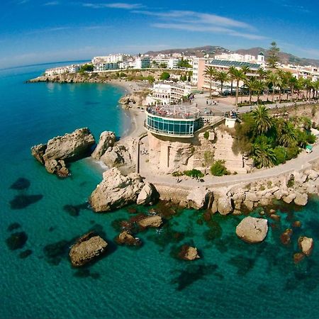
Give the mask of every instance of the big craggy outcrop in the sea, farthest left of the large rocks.
[(89, 155), (95, 140), (88, 128), (79, 128), (74, 132), (57, 136), (47, 142), (31, 147), (31, 154), (47, 172), (66, 177), (69, 174), (67, 163)]

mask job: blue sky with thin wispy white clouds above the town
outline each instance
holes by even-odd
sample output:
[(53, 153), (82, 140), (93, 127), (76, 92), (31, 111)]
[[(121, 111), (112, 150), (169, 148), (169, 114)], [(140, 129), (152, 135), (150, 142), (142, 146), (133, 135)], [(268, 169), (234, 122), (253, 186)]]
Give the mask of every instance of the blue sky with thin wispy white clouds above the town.
[(220, 45), (319, 59), (314, 1), (4, 0), (0, 68), (116, 52)]

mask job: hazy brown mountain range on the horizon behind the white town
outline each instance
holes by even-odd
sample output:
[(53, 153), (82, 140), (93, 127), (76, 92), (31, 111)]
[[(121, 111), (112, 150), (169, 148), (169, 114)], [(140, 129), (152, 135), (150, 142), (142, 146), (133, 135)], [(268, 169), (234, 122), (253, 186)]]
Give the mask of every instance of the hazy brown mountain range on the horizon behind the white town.
[[(213, 46), (213, 45), (206, 45), (204, 47), (188, 47), (184, 49), (167, 49), (161, 51), (148, 51), (146, 54), (148, 55), (158, 55), (160, 53), (170, 55), (173, 53), (184, 53), (185, 55), (195, 55), (196, 57), (203, 57), (204, 55), (217, 55), (220, 53), (228, 53), (228, 52), (235, 52), (242, 55), (255, 55), (257, 56), (259, 52), (264, 52), (264, 55), (267, 60), (268, 50), (264, 49), (263, 47), (252, 47), (250, 49), (240, 49), (236, 51), (230, 51), (225, 49), (225, 47)], [(319, 66), (319, 60), (316, 59), (308, 59), (306, 57), (296, 57), (296, 55), (291, 55), (291, 53), (286, 52), (279, 52), (279, 59), (280, 62), (283, 63), (295, 63), (298, 65), (317, 65)]]

